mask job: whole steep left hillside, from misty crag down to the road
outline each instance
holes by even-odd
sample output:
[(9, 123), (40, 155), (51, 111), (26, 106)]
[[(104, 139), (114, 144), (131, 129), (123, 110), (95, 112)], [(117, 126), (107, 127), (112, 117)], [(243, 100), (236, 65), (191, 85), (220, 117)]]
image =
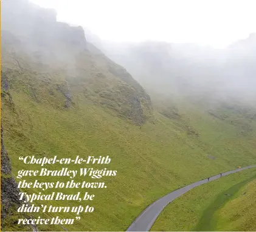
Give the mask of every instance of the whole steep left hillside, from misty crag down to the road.
[[(254, 110), (240, 115), (238, 105), (226, 116), (227, 107), (209, 111), (187, 99), (153, 110), (144, 89), (86, 42), (81, 28), (56, 22), (54, 12), (25, 0), (2, 4), (2, 126), (13, 175), (27, 169), (18, 161), (26, 155), (109, 155), (106, 167), (117, 170), (116, 177), (102, 178), (108, 188), (90, 190), (95, 211), (65, 225), (67, 230), (125, 230), (148, 204), (180, 185), (255, 164), (255, 120), (246, 118)], [(7, 222), (2, 230), (15, 230)]]

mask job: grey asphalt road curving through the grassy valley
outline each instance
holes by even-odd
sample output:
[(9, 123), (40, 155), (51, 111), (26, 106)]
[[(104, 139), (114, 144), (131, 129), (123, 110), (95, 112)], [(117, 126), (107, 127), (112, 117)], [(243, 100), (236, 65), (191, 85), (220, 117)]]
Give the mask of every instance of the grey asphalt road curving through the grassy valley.
[[(256, 165), (248, 166), (244, 168), (239, 168), (232, 171), (227, 171), (226, 173), (223, 173), (222, 176), (227, 176), (232, 173), (237, 173), (238, 171), (243, 171), (247, 168), (254, 168)], [(220, 174), (216, 176), (210, 177), (209, 181), (214, 181), (216, 179), (219, 179), (221, 176)], [(154, 224), (155, 220), (159, 216), (162, 210), (174, 199), (181, 196), (182, 194), (186, 193), (187, 191), (191, 190), (192, 188), (195, 188), (199, 185), (206, 184), (209, 182), (208, 179), (204, 179), (202, 181), (195, 182), (193, 184), (187, 185), (183, 188), (179, 188), (178, 190), (172, 191), (171, 193), (168, 193), (167, 195), (161, 197), (157, 201), (153, 202), (149, 207), (147, 207), (140, 215), (137, 217), (133, 224), (130, 225), (130, 227), (126, 231), (149, 231), (152, 225)]]

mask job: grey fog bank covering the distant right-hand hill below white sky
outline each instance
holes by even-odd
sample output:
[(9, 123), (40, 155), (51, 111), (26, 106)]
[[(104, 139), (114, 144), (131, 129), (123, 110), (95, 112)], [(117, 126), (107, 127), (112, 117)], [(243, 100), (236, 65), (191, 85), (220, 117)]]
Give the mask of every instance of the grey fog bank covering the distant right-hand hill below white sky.
[(256, 100), (256, 34), (227, 48), (159, 41), (86, 38), (125, 67), (148, 91), (161, 94)]

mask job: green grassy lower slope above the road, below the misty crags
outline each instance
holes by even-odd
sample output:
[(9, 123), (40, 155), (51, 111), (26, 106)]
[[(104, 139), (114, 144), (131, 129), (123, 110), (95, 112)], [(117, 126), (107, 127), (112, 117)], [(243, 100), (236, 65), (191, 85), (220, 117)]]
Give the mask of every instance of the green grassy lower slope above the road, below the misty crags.
[[(188, 111), (190, 118), (175, 120), (156, 112), (154, 123), (146, 122), (140, 129), (90, 101), (67, 110), (48, 102), (38, 103), (22, 91), (9, 93), (12, 104), (7, 94), (2, 99), (2, 125), (13, 174), (28, 167), (18, 161), (21, 155), (109, 155), (112, 162), (106, 167), (118, 170), (116, 177), (103, 178), (106, 190), (90, 191), (96, 194), (94, 213), (82, 216), (68, 230), (125, 230), (148, 204), (179, 186), (238, 165), (255, 163), (255, 145), (249, 136), (246, 141), (236, 127), (202, 111)], [(193, 124), (185, 124), (190, 120), (196, 126), (193, 130)], [(207, 136), (207, 131), (212, 136)], [(35, 167), (30, 165), (30, 168)]]

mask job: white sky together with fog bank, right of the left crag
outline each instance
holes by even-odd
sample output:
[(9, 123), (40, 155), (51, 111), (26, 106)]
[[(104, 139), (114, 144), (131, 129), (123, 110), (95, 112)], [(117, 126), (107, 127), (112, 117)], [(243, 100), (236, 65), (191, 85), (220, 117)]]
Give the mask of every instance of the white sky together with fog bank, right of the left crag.
[(151, 94), (255, 100), (254, 1), (32, 2), (81, 25)]

